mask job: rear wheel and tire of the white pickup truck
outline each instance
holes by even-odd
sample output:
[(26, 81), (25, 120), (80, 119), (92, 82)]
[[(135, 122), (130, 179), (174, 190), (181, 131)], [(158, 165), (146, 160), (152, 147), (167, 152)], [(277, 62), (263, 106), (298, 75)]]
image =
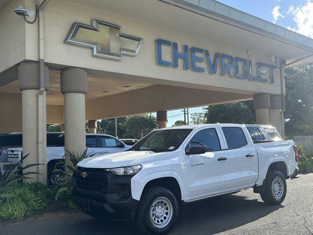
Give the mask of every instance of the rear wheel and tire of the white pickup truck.
[(260, 193), (262, 200), (269, 205), (281, 204), (287, 193), (285, 176), (277, 170), (270, 170), (265, 179), (265, 185)]

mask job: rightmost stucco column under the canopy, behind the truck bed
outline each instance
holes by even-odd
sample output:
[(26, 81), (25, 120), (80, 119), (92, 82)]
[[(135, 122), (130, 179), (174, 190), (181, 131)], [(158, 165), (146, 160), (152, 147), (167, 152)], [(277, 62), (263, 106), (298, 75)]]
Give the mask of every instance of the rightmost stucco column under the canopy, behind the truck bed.
[(283, 136), (283, 97), (280, 94), (270, 95), (269, 124), (276, 127), (277, 131)]

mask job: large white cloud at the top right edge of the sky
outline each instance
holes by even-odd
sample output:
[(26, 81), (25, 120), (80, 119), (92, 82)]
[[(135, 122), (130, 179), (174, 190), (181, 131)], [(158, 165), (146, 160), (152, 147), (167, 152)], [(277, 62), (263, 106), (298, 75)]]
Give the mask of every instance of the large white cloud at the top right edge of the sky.
[(293, 15), (296, 23), (295, 31), (313, 38), (313, 2), (308, 0), (303, 6), (290, 6), (288, 13)]

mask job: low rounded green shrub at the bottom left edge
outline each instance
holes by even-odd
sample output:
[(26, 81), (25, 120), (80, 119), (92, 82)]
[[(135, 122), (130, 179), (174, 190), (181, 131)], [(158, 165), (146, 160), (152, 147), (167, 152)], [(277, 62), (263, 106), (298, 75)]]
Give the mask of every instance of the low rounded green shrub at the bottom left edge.
[(0, 217), (3, 219), (22, 219), (26, 214), (27, 207), (19, 197), (7, 198), (0, 205)]

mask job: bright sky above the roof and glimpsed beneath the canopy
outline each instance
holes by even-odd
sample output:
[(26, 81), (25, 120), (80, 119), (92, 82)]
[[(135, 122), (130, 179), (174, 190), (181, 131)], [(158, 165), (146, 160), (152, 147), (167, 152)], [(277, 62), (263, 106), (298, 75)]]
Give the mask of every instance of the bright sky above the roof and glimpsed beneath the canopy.
[[(251, 15), (289, 28), (313, 38), (313, 0), (219, 0)], [(194, 113), (203, 113), (202, 107), (189, 109), (189, 120)], [(156, 115), (156, 114), (154, 114)], [(183, 120), (182, 110), (168, 112), (168, 124)]]

